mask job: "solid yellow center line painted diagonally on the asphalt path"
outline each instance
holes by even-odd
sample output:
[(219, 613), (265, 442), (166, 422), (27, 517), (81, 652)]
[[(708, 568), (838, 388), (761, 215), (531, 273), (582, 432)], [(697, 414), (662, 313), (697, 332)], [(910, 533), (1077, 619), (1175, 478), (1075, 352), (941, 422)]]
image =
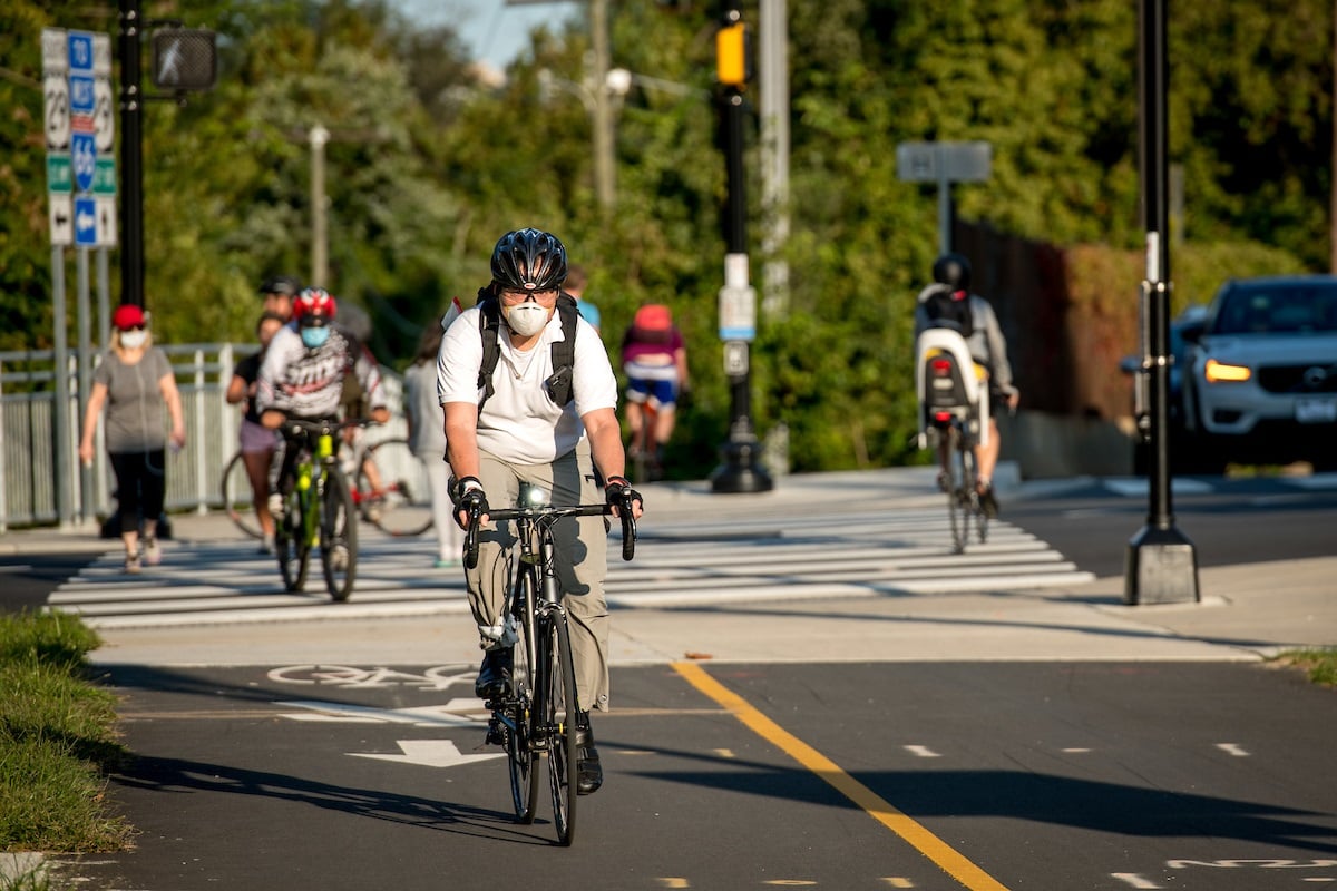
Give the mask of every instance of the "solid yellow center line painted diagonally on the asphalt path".
[(812, 745), (762, 715), (751, 703), (707, 675), (701, 665), (697, 663), (674, 663), (673, 667), (689, 684), (719, 703), (754, 733), (774, 743), (792, 759), (830, 783), (836, 791), (898, 835), (964, 887), (971, 891), (1007, 891), (1007, 887), (1000, 884), (997, 879), (967, 860), (951, 844), (892, 807), (881, 796), (842, 771), (840, 765)]

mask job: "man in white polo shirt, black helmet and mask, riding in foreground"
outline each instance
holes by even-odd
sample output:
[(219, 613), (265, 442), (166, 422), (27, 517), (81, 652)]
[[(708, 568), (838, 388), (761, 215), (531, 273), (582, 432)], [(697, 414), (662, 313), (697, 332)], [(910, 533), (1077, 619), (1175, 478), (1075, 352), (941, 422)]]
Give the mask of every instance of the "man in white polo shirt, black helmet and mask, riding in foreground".
[[(465, 310), (441, 341), (437, 397), (445, 413), (447, 458), (457, 476), (461, 526), (471, 508), (485, 514), (489, 501), (499, 508), (513, 505), (521, 481), (551, 492), (559, 506), (620, 504), (630, 493), (634, 514), (640, 516), (640, 496), (623, 476), (618, 381), (598, 333), (575, 314), (571, 297), (562, 294), (566, 277), (567, 252), (556, 236), (536, 228), (507, 232), (492, 252), (492, 282), (480, 291), (479, 305)], [(559, 310), (559, 302), (568, 306)], [(497, 323), (500, 355), (485, 379), (480, 369), (489, 318)], [(571, 367), (555, 375), (552, 343), (566, 339), (564, 323), (574, 325), (575, 354)], [(567, 518), (554, 533), (580, 704), (606, 711), (608, 525), (603, 517)], [(484, 699), (501, 693), (509, 681), (516, 639), (503, 621), (501, 606), (512, 534), (509, 526), (485, 525), (477, 566), (465, 573), (484, 651), (476, 684)], [(576, 789), (588, 795), (602, 784), (603, 772), (587, 712), (579, 727)]]

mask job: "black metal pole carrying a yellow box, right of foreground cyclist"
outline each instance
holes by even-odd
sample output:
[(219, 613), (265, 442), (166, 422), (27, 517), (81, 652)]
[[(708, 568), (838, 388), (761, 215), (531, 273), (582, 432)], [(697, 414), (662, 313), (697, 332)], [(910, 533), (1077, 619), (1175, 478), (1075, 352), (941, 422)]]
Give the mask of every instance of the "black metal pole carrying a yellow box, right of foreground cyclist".
[[(739, 27), (742, 35), (742, 12), (735, 0), (723, 0), (722, 24), (725, 28)], [(730, 51), (727, 59), (721, 59), (721, 68), (730, 63), (743, 65), (742, 44), (737, 52)], [(747, 198), (743, 171), (743, 123), (745, 108), (741, 81), (721, 72), (719, 128), (725, 147), (725, 170), (729, 178), (729, 198), (725, 207), (725, 287), (721, 301), (750, 302), (750, 311), (743, 313), (749, 326), (755, 325), (755, 293), (747, 282)], [(722, 326), (722, 335), (725, 334)], [(751, 422), (751, 358), (750, 338), (725, 341), (725, 375), (729, 379), (729, 439), (721, 446), (721, 464), (710, 474), (711, 492), (769, 492), (773, 488), (770, 476), (758, 462), (759, 448)]]

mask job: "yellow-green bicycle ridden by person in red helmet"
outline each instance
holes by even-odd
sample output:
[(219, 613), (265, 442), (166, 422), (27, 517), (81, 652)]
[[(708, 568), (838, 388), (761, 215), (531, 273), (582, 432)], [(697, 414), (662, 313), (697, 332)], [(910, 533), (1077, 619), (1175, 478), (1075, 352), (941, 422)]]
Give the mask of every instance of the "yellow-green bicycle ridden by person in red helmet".
[(289, 478), (279, 481), (283, 509), (274, 517), (274, 550), (287, 590), (306, 586), (312, 550), (320, 548), (330, 597), (342, 602), (353, 593), (357, 512), (334, 442), (344, 427), (369, 423), (374, 421), (283, 421), (287, 448), (298, 449)]

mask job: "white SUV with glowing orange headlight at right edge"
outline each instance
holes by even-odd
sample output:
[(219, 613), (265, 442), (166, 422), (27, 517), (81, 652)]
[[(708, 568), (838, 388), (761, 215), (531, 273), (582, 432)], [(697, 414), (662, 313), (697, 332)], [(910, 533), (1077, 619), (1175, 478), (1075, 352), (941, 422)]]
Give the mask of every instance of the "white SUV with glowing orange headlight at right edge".
[(1185, 419), (1199, 448), (1221, 464), (1333, 464), (1337, 277), (1226, 282), (1183, 335)]

